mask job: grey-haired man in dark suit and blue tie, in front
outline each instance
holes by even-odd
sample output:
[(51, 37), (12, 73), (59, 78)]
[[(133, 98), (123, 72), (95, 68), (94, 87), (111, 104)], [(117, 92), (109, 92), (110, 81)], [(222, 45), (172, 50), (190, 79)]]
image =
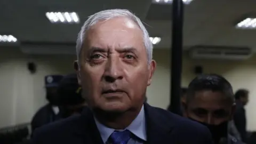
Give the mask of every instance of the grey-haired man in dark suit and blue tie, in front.
[(205, 126), (145, 102), (156, 62), (148, 32), (134, 14), (115, 9), (91, 15), (76, 49), (89, 108), (38, 129), (34, 143), (211, 143)]

